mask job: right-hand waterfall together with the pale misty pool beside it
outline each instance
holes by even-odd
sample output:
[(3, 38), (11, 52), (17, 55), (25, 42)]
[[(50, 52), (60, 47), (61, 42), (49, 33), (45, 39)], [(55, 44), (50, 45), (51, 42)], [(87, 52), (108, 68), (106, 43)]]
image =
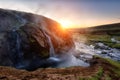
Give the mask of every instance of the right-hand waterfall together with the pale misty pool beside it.
[(55, 54), (54, 47), (49, 35), (44, 33), (44, 35), (48, 39), (48, 44), (50, 46), (50, 58), (49, 60), (53, 60), (56, 62), (60, 62), (56, 67), (70, 67), (70, 66), (89, 66), (89, 64), (85, 63), (84, 61), (76, 58), (74, 56), (75, 49), (70, 50), (62, 55)]

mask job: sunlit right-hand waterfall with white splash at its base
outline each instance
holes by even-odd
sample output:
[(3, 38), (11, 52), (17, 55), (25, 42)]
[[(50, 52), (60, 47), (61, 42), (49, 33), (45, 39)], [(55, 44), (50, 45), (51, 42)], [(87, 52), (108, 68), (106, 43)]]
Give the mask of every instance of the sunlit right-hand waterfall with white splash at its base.
[[(50, 32), (48, 32), (46, 29), (47, 24), (46, 24), (44, 18), (41, 17), (41, 19), (39, 19), (39, 20), (36, 18), (36, 22), (38, 22), (38, 23), (41, 22), (42, 27), (39, 27), (39, 28), (43, 31), (43, 34), (46, 36), (48, 45), (50, 47), (49, 48), (50, 57), (47, 59), (47, 61), (50, 61), (50, 63), (54, 63), (54, 64), (61, 62), (61, 59), (55, 54), (55, 50), (54, 50), (54, 46), (53, 46), (51, 37), (48, 35)], [(46, 31), (48, 33), (46, 33)], [(54, 35), (54, 34), (52, 34), (52, 35)], [(53, 66), (53, 65), (51, 65), (51, 66)]]

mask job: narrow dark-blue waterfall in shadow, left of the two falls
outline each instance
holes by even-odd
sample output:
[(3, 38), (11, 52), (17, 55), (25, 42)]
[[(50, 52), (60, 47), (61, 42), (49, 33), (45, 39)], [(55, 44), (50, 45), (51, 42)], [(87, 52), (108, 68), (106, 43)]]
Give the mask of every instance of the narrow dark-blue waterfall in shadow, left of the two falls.
[(21, 68), (24, 66), (23, 52), (21, 50), (21, 38), (17, 31), (12, 31), (12, 33), (13, 34), (11, 35), (11, 37), (14, 36), (13, 39), (15, 40), (15, 42), (12, 43), (12, 47), (14, 47), (13, 56), (15, 56), (14, 59), (16, 60), (14, 66), (16, 68)]

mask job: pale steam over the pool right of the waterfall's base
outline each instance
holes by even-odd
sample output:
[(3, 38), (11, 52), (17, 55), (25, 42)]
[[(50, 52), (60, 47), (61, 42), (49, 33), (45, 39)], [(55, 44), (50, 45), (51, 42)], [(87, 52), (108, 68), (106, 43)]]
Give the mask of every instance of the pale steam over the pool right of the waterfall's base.
[(64, 55), (60, 56), (62, 62), (58, 64), (57, 67), (70, 67), (70, 66), (84, 66), (88, 67), (89, 63), (81, 60), (80, 57), (76, 57), (74, 54), (76, 53), (75, 49), (69, 50), (69, 52), (64, 53)]

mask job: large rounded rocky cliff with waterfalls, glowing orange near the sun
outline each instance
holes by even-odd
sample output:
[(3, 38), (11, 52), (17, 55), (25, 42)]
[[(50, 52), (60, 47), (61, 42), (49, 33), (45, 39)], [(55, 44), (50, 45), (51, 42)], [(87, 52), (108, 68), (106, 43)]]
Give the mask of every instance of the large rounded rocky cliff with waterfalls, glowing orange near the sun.
[(40, 15), (0, 9), (0, 65), (48, 67), (50, 56), (73, 47), (72, 38), (59, 23)]

